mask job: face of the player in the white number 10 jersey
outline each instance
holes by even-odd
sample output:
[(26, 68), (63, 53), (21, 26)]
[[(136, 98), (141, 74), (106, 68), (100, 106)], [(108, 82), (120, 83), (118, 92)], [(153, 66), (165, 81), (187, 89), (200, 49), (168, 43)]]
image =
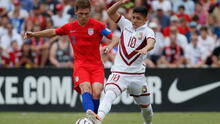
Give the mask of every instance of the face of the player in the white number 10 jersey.
[(131, 22), (134, 28), (138, 28), (144, 25), (147, 21), (147, 17), (141, 15), (140, 13), (132, 13)]

